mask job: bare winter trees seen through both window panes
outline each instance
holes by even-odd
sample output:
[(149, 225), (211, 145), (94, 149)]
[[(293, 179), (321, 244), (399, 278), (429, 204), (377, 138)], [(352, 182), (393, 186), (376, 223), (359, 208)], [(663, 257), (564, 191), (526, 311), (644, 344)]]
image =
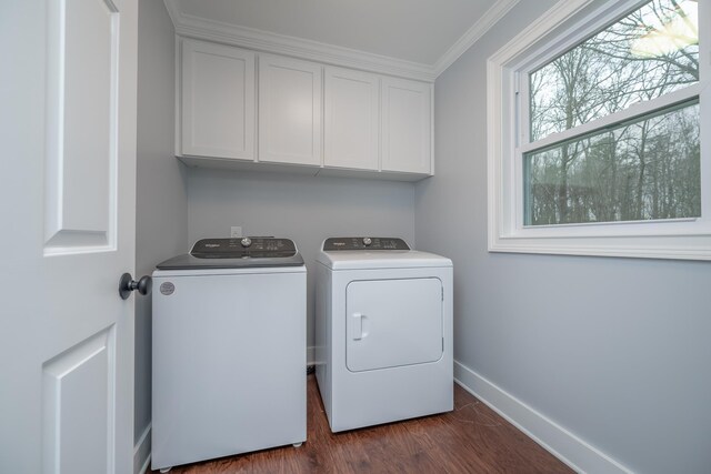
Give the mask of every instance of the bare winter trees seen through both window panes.
[[(529, 74), (530, 141), (699, 81), (698, 2), (652, 0)], [(701, 215), (699, 100), (523, 154), (525, 225)]]

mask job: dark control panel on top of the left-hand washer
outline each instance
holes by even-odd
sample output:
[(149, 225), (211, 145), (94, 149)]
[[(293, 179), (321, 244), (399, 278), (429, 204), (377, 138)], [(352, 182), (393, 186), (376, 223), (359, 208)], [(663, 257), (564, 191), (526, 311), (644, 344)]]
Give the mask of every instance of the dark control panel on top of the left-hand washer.
[(190, 251), (198, 259), (268, 259), (296, 253), (293, 241), (274, 238), (201, 239)]

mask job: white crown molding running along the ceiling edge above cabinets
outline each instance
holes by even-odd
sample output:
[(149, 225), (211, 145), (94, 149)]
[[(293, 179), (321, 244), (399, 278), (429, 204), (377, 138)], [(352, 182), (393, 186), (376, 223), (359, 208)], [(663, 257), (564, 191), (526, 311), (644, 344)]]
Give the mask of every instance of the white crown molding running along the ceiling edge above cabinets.
[(381, 74), (434, 82), (461, 54), (489, 31), (519, 0), (499, 0), (434, 64), (405, 61), (302, 38), (207, 20), (180, 11), (179, 0), (163, 0), (181, 37), (238, 46)]

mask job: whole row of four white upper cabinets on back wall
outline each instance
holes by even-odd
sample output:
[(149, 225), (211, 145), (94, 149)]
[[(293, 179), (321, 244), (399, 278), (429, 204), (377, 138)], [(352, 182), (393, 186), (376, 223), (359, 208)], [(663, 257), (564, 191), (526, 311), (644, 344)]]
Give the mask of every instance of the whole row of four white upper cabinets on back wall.
[(432, 174), (430, 83), (179, 43), (176, 154), (186, 164), (404, 181)]

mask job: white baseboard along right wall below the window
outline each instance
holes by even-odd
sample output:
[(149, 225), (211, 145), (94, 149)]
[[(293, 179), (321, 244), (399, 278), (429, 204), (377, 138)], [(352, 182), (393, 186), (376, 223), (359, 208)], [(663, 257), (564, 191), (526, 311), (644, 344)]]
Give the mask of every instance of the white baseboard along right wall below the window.
[(454, 381), (575, 472), (632, 474), (631, 470), (457, 361)]

